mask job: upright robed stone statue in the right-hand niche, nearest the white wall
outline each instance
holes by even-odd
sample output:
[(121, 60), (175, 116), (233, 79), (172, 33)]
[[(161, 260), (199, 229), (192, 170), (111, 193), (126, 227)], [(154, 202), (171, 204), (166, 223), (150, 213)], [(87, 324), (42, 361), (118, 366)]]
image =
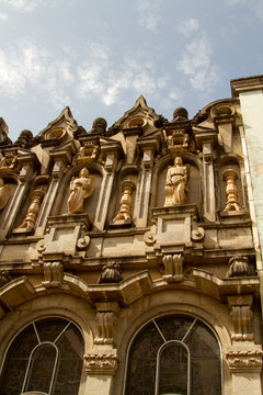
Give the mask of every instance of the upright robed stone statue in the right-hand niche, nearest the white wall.
[(187, 202), (187, 183), (190, 179), (190, 166), (183, 165), (181, 157), (175, 157), (174, 166), (168, 168), (164, 187), (164, 207)]

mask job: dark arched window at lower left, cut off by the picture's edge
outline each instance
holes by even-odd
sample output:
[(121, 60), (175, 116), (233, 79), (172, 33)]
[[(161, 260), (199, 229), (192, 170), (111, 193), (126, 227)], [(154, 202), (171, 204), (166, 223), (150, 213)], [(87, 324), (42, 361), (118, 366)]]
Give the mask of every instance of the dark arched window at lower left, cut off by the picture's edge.
[(71, 321), (34, 321), (9, 348), (0, 395), (78, 395), (83, 353), (82, 335)]

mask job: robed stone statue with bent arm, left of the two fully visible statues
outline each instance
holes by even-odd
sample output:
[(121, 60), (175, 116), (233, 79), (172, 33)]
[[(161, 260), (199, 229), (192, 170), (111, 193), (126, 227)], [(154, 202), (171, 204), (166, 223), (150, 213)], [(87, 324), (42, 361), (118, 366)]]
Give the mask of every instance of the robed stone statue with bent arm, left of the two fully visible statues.
[(83, 213), (83, 203), (94, 191), (95, 178), (90, 176), (89, 170), (83, 168), (79, 177), (72, 178), (69, 187), (68, 211), (70, 214)]

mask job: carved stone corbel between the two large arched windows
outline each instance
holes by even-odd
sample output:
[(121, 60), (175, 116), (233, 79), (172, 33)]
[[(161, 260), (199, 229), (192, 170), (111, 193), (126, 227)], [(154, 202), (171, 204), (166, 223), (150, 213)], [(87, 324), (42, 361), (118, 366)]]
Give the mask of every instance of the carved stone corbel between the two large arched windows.
[(94, 345), (113, 345), (114, 327), (117, 324), (119, 306), (117, 302), (98, 302), (96, 306), (96, 336)]

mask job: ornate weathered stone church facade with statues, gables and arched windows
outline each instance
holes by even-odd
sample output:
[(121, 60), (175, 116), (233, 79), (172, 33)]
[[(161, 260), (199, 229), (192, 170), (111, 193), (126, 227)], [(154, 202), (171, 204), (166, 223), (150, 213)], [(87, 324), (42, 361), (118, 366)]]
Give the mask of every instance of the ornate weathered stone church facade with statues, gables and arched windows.
[(263, 77), (231, 89), (0, 119), (0, 395), (262, 393)]

